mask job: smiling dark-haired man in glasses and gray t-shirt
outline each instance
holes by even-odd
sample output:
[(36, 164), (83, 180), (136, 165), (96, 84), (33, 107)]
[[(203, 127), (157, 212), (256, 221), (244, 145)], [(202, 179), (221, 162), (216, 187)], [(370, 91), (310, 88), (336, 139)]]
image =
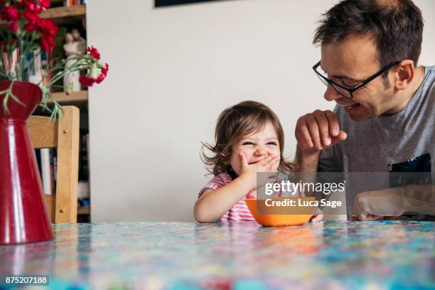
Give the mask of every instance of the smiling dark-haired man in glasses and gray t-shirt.
[[(314, 37), (321, 61), (313, 69), (337, 105), (298, 119), (299, 171), (385, 173), (390, 187), (402, 186), (348, 195), (360, 220), (435, 215), (435, 66), (417, 67), (422, 31), (410, 0), (346, 0), (323, 15)], [(394, 184), (394, 171), (429, 172), (429, 184)]]

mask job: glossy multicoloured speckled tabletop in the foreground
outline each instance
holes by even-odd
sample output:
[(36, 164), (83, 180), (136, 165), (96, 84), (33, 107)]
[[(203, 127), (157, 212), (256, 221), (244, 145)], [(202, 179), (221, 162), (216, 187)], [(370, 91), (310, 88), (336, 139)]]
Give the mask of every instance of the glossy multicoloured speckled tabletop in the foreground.
[(435, 222), (121, 222), (53, 225), (55, 241), (0, 247), (0, 273), (51, 289), (435, 287)]

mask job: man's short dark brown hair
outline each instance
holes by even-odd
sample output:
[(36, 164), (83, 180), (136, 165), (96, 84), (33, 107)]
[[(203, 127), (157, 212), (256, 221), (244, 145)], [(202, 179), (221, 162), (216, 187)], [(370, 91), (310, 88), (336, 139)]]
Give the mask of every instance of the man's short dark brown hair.
[(345, 0), (320, 21), (313, 44), (341, 41), (350, 33), (372, 33), (380, 67), (395, 60), (417, 66), (423, 38), (423, 18), (411, 0)]

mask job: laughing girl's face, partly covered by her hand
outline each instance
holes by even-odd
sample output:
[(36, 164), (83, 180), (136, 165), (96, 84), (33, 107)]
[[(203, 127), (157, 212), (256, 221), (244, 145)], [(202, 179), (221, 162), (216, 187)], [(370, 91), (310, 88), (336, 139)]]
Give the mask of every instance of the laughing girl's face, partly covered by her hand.
[(249, 164), (256, 163), (264, 159), (267, 154), (272, 156), (280, 156), (281, 151), (274, 126), (268, 122), (263, 129), (247, 136), (243, 136), (237, 144), (232, 146), (230, 164), (237, 176), (240, 176), (241, 173), (241, 152), (245, 154)]

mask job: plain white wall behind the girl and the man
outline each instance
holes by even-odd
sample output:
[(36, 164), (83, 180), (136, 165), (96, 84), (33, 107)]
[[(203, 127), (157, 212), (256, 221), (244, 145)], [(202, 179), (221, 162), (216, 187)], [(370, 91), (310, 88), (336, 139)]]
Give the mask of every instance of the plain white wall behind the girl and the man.
[[(278, 114), (293, 157), (296, 119), (329, 109), (311, 67), (316, 21), (333, 0), (237, 0), (154, 9), (152, 0), (87, 1), (88, 45), (110, 64), (90, 90), (93, 221), (190, 221), (208, 180), (200, 141), (218, 114), (259, 100)], [(435, 1), (421, 63), (433, 64)]]

